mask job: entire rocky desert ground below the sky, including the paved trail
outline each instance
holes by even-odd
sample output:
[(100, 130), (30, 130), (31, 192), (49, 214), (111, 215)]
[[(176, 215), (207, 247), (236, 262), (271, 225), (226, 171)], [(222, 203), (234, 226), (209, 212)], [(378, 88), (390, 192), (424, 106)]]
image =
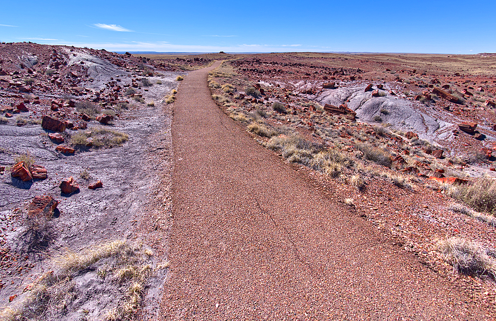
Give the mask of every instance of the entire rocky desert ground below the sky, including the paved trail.
[(495, 68), (2, 43), (0, 315), (494, 319)]

